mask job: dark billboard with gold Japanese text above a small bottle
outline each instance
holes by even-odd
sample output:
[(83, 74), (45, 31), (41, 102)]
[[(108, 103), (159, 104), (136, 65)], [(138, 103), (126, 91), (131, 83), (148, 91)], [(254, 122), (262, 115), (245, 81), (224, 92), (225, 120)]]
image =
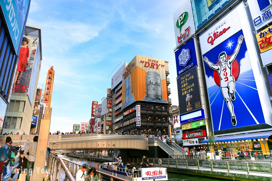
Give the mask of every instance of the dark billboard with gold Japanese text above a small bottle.
[(176, 78), (180, 114), (202, 108), (196, 66)]

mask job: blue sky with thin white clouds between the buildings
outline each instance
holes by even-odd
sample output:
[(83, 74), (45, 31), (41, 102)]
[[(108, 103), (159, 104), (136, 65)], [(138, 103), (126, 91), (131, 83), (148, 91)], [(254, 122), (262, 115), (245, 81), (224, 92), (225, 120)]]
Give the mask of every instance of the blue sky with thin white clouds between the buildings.
[(182, 2), (32, 0), (27, 24), (41, 27), (42, 39), (38, 87), (44, 88), (50, 66), (55, 70), (50, 132), (88, 122), (91, 103), (102, 102), (115, 67), (135, 55), (169, 61), (170, 98), (178, 105), (173, 13)]

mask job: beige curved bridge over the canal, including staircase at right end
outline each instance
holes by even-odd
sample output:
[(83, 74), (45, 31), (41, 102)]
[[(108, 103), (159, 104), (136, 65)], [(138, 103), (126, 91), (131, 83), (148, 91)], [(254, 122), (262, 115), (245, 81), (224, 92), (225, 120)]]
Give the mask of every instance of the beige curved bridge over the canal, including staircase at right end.
[[(33, 141), (36, 135), (0, 135), (0, 141), (4, 141), (10, 136), (13, 145), (23, 145), (25, 141)], [(167, 138), (169, 141), (170, 139)], [(146, 138), (141, 135), (110, 135), (110, 134), (71, 134), (71, 135), (49, 135), (48, 147), (51, 151), (59, 150), (110, 150), (119, 149), (129, 150), (132, 155), (146, 155), (149, 148), (157, 149), (160, 147), (165, 151), (166, 156), (179, 158), (185, 155), (185, 151), (172, 140), (172, 148), (157, 137)], [(138, 150), (138, 151), (137, 151)], [(153, 151), (153, 150), (152, 150)], [(143, 154), (144, 153), (144, 154)], [(122, 154), (123, 155), (123, 154)], [(130, 155), (127, 153), (126, 155)], [(136, 155), (135, 155), (136, 156)], [(154, 154), (152, 154), (154, 156)]]

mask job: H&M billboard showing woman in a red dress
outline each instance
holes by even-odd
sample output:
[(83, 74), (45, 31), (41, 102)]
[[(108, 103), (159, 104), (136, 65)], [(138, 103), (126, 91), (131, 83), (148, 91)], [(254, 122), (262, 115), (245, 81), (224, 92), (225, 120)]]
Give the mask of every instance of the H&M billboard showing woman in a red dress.
[[(38, 48), (39, 39), (24, 36), (19, 52), (19, 62), (15, 74), (12, 92), (28, 94), (30, 88), (30, 79), (33, 71), (37, 71), (39, 62), (35, 62), (36, 50)], [(35, 64), (35, 65), (34, 65)], [(35, 73), (37, 76), (37, 73)], [(35, 76), (35, 75), (33, 75)], [(36, 80), (36, 77), (35, 77)], [(32, 83), (33, 84), (33, 83)], [(35, 84), (35, 83), (34, 83)], [(33, 87), (34, 90), (34, 87)], [(33, 95), (33, 94), (32, 94)], [(32, 96), (29, 98), (32, 102)]]

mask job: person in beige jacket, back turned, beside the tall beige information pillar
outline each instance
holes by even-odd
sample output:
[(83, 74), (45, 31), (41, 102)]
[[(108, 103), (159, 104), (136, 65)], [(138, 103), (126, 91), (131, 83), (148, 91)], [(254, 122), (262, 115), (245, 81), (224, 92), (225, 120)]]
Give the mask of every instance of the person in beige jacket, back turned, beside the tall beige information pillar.
[[(37, 150), (37, 143), (38, 143), (38, 136), (34, 136), (33, 143), (29, 143), (27, 147), (24, 150), (24, 156), (26, 159), (28, 159), (28, 165), (27, 165), (27, 175), (25, 177), (25, 181), (29, 181), (30, 179), (30, 173), (32, 172), (34, 168), (34, 161), (36, 156), (36, 150)], [(29, 155), (28, 155), (29, 153)]]

